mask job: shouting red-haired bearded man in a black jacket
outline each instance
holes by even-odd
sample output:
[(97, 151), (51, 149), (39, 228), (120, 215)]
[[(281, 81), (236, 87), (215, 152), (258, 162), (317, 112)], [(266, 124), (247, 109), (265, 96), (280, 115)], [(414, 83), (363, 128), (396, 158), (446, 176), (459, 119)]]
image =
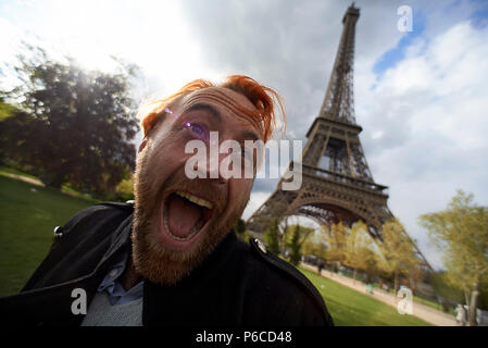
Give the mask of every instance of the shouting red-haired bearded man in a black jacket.
[[(226, 140), (267, 141), (276, 123), (273, 97), (279, 102), (252, 78), (230, 76), (221, 85), (195, 80), (149, 104), (141, 111), (135, 204), (97, 204), (55, 231), (59, 237), (21, 294), (1, 299), (2, 320), (331, 325), (322, 297), (301, 273), (259, 240), (245, 244), (233, 232), (253, 176), (224, 175), (220, 167), (228, 153), (217, 153), (217, 163), (192, 165), (193, 153), (186, 151), (191, 141), (210, 151)], [(242, 163), (251, 159), (255, 174), (259, 156), (237, 154)], [(189, 178), (190, 172), (198, 175)]]

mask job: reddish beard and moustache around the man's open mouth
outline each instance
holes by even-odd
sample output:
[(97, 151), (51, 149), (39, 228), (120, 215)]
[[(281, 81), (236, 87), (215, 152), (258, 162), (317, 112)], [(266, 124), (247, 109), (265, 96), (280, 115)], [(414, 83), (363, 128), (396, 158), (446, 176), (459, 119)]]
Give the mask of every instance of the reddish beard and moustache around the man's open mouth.
[[(229, 206), (227, 185), (225, 189), (217, 189), (212, 179), (188, 179), (183, 170), (170, 175), (164, 183), (158, 184), (157, 178), (147, 171), (151, 167), (148, 154), (148, 151), (139, 154), (140, 159), (136, 167), (136, 203), (132, 233), (133, 261), (137, 273), (149, 281), (171, 285), (189, 275), (213, 251), (242, 214), (249, 197), (241, 206), (235, 207), (227, 214), (228, 219), (222, 220), (222, 214)], [(154, 185), (158, 189), (154, 189)], [(168, 199), (170, 195), (176, 190), (195, 192), (199, 197), (212, 197), (214, 203), (212, 216), (205, 227), (202, 227), (202, 232), (197, 236), (198, 239), (186, 250), (168, 248), (168, 245), (159, 238), (163, 233), (161, 231), (163, 200)], [(179, 217), (184, 216), (182, 211), (178, 214)]]

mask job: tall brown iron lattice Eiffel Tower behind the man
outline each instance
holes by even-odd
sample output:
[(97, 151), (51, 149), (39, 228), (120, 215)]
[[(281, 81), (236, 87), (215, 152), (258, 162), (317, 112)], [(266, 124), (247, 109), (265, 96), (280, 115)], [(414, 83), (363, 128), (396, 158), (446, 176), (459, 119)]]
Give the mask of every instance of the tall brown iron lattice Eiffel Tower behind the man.
[[(388, 188), (373, 179), (359, 138), (362, 127), (354, 117), (354, 35), (359, 16), (352, 3), (342, 18), (342, 35), (324, 102), (306, 133), (302, 186), (284, 190), (281, 184), (287, 179), (279, 179), (275, 191), (247, 221), (247, 228), (258, 238), (273, 220), (301, 215), (328, 226), (340, 221), (351, 226), (362, 220), (370, 235), (381, 240), (383, 223), (393, 217), (387, 206)], [(293, 162), (289, 170), (293, 170)], [(431, 270), (414, 246), (422, 265)]]

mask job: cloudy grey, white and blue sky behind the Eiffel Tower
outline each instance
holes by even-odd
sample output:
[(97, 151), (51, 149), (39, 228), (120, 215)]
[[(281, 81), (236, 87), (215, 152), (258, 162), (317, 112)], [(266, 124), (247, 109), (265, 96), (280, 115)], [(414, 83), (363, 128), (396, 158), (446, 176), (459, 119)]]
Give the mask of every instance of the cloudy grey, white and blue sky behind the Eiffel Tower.
[[(86, 69), (111, 71), (114, 55), (140, 66), (142, 100), (196, 78), (245, 74), (281, 95), (288, 139), (306, 141), (349, 5), (342, 0), (2, 1), (0, 67), (5, 75), (21, 40), (39, 44), (53, 57), (74, 57)], [(488, 1), (355, 5), (361, 15), (354, 109), (366, 160), (375, 182), (389, 187), (392, 213), (439, 269), (440, 253), (418, 215), (445, 209), (456, 189), (488, 206)], [(411, 32), (398, 28), (402, 5), (412, 9)], [(245, 219), (276, 184), (256, 179)]]

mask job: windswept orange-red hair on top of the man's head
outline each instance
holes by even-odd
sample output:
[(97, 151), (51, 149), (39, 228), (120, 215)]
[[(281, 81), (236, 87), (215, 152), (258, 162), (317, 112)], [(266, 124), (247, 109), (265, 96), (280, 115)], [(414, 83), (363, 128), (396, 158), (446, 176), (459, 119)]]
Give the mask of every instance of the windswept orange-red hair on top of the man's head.
[(186, 84), (177, 92), (171, 95), (170, 97), (158, 99), (147, 103), (145, 108), (139, 111), (139, 116), (141, 119), (140, 123), (143, 128), (145, 138), (148, 136), (149, 132), (154, 127), (154, 125), (160, 121), (160, 119), (166, 114), (166, 108), (171, 108), (177, 100), (192, 91), (209, 87), (228, 88), (249, 99), (249, 101), (254, 105), (255, 109), (258, 109), (258, 111), (251, 111), (246, 108), (241, 108), (240, 111), (249, 117), (249, 121), (252, 124), (256, 125), (258, 128), (262, 130), (264, 142), (266, 142), (271, 138), (273, 130), (276, 127), (274, 99), (276, 99), (279, 105), (285, 126), (285, 108), (283, 105), (281, 97), (279, 97), (279, 95), (274, 89), (260, 85), (249, 76), (233, 75), (228, 76), (222, 84), (217, 85), (207, 79), (196, 79), (189, 84)]

